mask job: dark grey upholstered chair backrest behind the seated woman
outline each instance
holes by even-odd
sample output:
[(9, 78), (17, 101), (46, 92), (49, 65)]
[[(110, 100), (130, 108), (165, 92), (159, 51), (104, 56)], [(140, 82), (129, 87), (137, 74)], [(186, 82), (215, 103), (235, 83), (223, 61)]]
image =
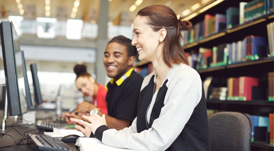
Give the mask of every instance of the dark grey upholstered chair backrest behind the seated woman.
[(209, 117), (212, 151), (250, 151), (251, 121), (240, 112), (219, 112)]

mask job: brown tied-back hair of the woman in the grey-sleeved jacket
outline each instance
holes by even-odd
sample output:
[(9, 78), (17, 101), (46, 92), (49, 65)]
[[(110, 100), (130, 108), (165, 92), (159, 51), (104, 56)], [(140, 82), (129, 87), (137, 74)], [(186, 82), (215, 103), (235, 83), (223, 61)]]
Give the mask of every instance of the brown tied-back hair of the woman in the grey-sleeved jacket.
[(180, 30), (190, 30), (192, 24), (189, 21), (182, 21), (181, 17), (177, 19), (176, 13), (167, 6), (151, 5), (140, 10), (136, 16), (145, 17), (147, 24), (154, 31), (166, 29), (167, 35), (163, 41), (164, 49), (162, 51), (164, 62), (172, 67), (172, 64), (189, 64), (180, 45), (183, 36)]

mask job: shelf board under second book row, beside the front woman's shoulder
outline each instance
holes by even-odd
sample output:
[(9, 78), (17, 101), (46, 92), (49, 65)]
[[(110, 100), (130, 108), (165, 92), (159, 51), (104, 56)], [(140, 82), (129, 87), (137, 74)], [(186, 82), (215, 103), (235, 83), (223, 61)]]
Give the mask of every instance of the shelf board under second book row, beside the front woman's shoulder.
[(226, 68), (236, 68), (236, 67), (260, 64), (260, 63), (266, 63), (266, 62), (274, 62), (274, 57), (264, 57), (264, 58), (260, 58), (258, 60), (253, 60), (253, 61), (239, 62), (239, 63), (235, 63), (235, 64), (212, 67), (212, 68), (207, 68), (207, 69), (199, 69), (199, 70), (197, 70), (197, 72), (198, 73), (205, 73), (205, 72), (223, 70), (223, 69), (226, 69)]

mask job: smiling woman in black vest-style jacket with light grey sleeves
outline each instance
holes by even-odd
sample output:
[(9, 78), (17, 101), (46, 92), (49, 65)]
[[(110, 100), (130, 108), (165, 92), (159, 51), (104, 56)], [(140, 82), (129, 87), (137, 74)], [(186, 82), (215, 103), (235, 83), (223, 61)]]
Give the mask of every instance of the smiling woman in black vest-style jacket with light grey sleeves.
[(152, 62), (155, 71), (142, 84), (138, 115), (132, 125), (111, 129), (106, 116), (71, 119), (86, 137), (92, 131), (104, 144), (134, 150), (211, 150), (207, 107), (197, 71), (188, 66), (180, 45), (180, 30), (188, 21), (177, 19), (167, 6), (152, 5), (138, 12), (133, 23), (139, 60)]

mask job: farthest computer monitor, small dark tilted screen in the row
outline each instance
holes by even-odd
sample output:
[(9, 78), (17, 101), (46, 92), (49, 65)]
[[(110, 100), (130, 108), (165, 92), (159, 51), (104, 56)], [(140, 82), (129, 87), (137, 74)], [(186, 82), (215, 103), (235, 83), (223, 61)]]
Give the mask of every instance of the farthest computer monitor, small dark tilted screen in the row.
[(42, 95), (41, 95), (41, 90), (39, 85), (39, 79), (37, 75), (36, 63), (31, 63), (30, 69), (31, 69), (32, 83), (34, 88), (34, 101), (36, 102), (37, 105), (39, 105), (43, 103), (43, 100), (42, 100)]

